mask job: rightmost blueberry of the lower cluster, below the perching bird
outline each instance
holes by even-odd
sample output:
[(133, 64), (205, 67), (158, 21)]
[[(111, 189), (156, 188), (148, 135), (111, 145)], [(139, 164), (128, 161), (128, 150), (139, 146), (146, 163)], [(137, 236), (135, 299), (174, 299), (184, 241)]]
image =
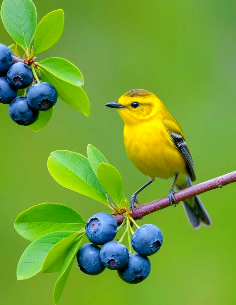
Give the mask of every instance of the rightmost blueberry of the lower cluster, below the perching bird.
[(157, 226), (146, 224), (135, 231), (131, 243), (137, 253), (149, 256), (160, 249), (163, 236)]

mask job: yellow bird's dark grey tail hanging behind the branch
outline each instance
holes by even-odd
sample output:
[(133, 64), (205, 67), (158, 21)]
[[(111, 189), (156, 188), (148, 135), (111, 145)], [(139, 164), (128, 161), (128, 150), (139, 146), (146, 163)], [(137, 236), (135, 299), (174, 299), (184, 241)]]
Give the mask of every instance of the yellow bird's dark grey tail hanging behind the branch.
[[(193, 183), (191, 178), (187, 176), (185, 182), (181, 183), (180, 185), (176, 185), (176, 188), (183, 190), (184, 188), (190, 187), (192, 185)], [(211, 226), (210, 216), (203, 206), (199, 196), (191, 197), (183, 201), (183, 207), (187, 214), (187, 218), (194, 229), (199, 229), (202, 224), (204, 226)]]

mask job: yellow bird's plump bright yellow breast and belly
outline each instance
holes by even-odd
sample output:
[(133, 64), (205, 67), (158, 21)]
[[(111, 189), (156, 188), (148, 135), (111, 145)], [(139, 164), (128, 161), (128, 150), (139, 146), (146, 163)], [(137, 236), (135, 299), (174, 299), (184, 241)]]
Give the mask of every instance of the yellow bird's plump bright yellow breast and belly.
[(125, 124), (124, 145), (130, 160), (144, 175), (170, 179), (176, 172), (187, 173), (186, 161), (158, 119)]

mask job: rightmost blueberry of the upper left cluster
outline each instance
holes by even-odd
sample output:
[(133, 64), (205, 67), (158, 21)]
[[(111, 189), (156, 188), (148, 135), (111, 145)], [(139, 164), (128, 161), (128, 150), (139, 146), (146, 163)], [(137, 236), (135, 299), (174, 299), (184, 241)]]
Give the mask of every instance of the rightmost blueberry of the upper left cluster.
[(49, 110), (57, 102), (57, 90), (49, 83), (37, 83), (27, 90), (28, 104), (35, 110)]

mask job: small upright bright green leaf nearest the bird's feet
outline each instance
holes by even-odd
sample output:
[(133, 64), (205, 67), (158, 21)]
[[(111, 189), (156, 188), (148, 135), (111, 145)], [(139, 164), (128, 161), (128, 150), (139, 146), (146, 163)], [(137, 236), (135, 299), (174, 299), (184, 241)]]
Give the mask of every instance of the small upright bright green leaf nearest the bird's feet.
[(122, 201), (122, 178), (118, 170), (107, 163), (100, 163), (97, 177), (107, 194), (117, 205)]

